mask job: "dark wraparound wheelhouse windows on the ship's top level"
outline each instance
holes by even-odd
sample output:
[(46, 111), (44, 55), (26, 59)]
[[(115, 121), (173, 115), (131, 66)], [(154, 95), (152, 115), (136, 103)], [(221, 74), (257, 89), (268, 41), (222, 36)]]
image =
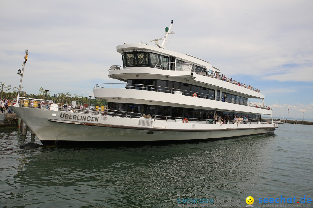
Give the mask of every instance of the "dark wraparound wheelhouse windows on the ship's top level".
[[(176, 60), (173, 56), (165, 56), (145, 51), (124, 52), (122, 53), (122, 59), (124, 68), (130, 66), (143, 66), (152, 68), (156, 67), (163, 70), (183, 70), (184, 65), (189, 66), (189, 63), (182, 60)], [(173, 64), (175, 62), (176, 65)], [(190, 64), (190, 69), (196, 73), (207, 72), (204, 67), (194, 64)]]

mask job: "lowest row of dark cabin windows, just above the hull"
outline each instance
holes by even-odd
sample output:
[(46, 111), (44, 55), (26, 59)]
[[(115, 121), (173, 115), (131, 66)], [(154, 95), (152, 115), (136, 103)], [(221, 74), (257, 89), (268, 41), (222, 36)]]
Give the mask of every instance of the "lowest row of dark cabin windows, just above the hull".
[[(111, 110), (119, 110), (126, 112), (134, 112), (141, 114), (168, 116), (170, 119), (177, 118), (188, 118), (188, 119), (208, 119), (208, 115), (213, 113), (214, 110), (204, 110), (204, 109), (191, 109), (191, 108), (178, 108), (170, 106), (160, 106), (160, 105), (143, 105), (143, 104), (128, 104), (128, 103), (109, 103), (108, 108)], [(249, 121), (260, 121), (261, 115), (255, 114), (244, 114), (236, 112), (227, 111), (216, 111), (215, 116), (220, 115), (223, 119), (226, 115), (229, 115), (229, 119), (233, 120), (235, 116), (246, 116)]]

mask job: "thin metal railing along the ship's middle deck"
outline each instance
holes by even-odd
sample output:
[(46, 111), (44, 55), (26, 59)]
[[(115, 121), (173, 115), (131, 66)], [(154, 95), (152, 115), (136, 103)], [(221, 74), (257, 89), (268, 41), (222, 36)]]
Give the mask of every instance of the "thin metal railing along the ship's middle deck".
[(106, 84), (95, 85), (95, 89), (97, 89), (97, 88), (117, 88), (117, 89), (125, 88), (125, 89), (139, 89), (139, 90), (147, 90), (147, 91), (155, 91), (155, 92), (164, 92), (164, 93), (171, 93), (171, 94), (182, 94), (185, 96), (193, 96), (193, 97), (197, 97), (197, 98), (211, 99), (211, 100), (217, 100), (217, 101), (221, 101), (221, 102), (251, 106), (254, 108), (257, 107), (257, 108), (272, 110), (271, 108), (267, 108), (266, 106), (248, 103), (248, 102), (244, 102), (242, 100), (235, 100), (235, 99), (230, 99), (230, 98), (227, 98), (225, 100), (221, 96), (214, 96), (212, 94), (205, 94), (205, 93), (200, 93), (200, 92), (195, 92), (195, 91), (169, 88), (169, 87), (162, 87), (162, 86), (156, 86), (156, 85), (142, 85), (142, 84), (129, 84), (129, 83), (128, 84), (106, 83)]

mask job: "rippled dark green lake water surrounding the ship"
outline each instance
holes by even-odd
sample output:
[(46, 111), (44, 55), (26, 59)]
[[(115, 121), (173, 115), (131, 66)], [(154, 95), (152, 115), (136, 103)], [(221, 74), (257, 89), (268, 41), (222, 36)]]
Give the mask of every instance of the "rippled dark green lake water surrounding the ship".
[(175, 207), (178, 194), (189, 194), (246, 206), (249, 195), (310, 195), (313, 129), (304, 126), (214, 141), (35, 149), (19, 146), (37, 137), (2, 128), (0, 205)]

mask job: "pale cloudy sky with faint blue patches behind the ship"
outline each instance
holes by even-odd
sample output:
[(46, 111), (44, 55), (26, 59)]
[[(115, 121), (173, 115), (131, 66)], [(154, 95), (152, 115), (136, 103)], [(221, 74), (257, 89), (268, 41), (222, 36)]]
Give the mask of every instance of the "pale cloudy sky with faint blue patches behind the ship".
[(313, 120), (312, 10), (310, 0), (0, 0), (0, 81), (19, 86), (28, 49), (27, 94), (93, 96), (96, 84), (120, 82), (108, 78), (122, 64), (117, 45), (154, 45), (173, 20), (166, 49), (258, 88), (274, 118)]

